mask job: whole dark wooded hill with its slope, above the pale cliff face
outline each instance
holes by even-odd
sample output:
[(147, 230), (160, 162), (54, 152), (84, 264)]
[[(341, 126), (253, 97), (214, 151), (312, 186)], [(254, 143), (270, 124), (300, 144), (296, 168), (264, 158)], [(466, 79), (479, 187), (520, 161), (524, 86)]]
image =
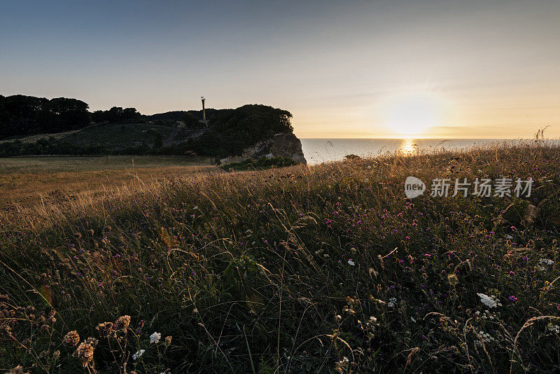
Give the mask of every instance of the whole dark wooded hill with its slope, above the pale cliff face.
[[(173, 111), (87, 111), (76, 99), (0, 95), (0, 157), (21, 155), (184, 155), (225, 158), (292, 131), (288, 111), (265, 105)], [(29, 138), (29, 136), (32, 136)], [(27, 137), (27, 138), (26, 138)]]

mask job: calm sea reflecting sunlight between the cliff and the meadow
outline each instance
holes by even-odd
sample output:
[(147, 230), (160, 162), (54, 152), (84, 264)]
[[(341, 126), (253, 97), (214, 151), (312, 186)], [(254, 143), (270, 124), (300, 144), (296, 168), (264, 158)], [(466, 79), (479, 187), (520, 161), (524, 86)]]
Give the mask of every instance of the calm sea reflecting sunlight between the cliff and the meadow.
[[(303, 154), (309, 164), (338, 161), (345, 155), (374, 157), (401, 151), (432, 151), (470, 148), (496, 144), (511, 139), (301, 139)], [(529, 140), (527, 140), (529, 141)]]

